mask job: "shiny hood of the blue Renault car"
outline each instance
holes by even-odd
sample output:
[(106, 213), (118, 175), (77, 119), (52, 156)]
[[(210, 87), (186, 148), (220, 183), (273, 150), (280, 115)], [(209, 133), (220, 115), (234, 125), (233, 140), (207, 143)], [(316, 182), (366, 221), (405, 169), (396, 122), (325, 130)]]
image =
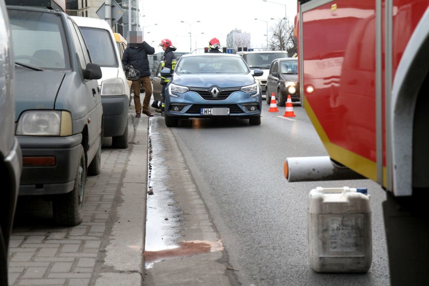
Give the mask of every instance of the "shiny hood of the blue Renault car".
[(174, 74), (172, 83), (194, 88), (209, 88), (218, 86), (220, 88), (244, 87), (255, 83), (252, 75), (231, 75), (231, 74), (192, 74), (178, 75)]

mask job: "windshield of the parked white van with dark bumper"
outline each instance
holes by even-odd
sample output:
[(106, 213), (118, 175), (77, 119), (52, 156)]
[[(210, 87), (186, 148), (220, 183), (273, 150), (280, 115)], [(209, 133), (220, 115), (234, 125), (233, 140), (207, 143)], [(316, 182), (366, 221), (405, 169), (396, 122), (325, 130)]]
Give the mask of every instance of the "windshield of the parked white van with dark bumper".
[(108, 31), (96, 28), (80, 27), (90, 51), (93, 62), (100, 66), (116, 67), (113, 40)]

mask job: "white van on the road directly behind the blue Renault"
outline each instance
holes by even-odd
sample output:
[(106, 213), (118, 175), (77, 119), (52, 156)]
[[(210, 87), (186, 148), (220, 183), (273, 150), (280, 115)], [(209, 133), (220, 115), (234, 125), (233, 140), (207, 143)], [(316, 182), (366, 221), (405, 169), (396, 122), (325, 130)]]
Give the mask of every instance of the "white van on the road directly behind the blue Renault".
[(264, 72), (263, 76), (255, 77), (255, 80), (259, 83), (262, 89), (262, 95), (266, 93), (266, 85), (268, 79), (268, 72), (271, 66), (271, 62), (280, 57), (289, 57), (287, 51), (251, 51), (251, 52), (237, 52), (241, 55), (244, 61), (247, 62), (250, 69), (255, 68), (261, 69)]

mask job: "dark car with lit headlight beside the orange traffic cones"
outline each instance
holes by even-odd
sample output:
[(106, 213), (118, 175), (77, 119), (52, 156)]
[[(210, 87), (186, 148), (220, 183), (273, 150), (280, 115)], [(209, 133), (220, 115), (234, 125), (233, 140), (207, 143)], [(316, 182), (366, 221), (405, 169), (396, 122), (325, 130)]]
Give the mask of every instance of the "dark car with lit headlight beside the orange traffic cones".
[(267, 104), (271, 103), (274, 93), (278, 106), (285, 106), (288, 95), (292, 102), (300, 102), (298, 87), (298, 58), (277, 58), (271, 62), (267, 79)]

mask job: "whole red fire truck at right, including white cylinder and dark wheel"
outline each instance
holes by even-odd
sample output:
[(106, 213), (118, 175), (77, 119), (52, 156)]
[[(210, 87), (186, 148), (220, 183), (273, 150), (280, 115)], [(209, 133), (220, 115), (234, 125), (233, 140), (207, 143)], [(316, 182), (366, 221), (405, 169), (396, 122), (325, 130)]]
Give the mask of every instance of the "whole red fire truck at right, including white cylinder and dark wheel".
[(368, 178), (386, 190), (392, 285), (429, 285), (428, 7), (429, 0), (298, 2), (301, 102), (329, 156), (287, 158), (284, 175)]

